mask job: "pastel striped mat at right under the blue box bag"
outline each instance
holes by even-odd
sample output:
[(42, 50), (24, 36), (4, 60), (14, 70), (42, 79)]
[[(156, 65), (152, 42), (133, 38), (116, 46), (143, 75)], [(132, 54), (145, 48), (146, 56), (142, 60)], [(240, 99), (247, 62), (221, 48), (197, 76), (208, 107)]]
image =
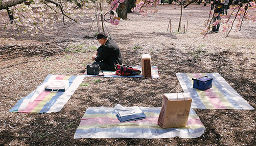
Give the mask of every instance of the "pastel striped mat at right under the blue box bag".
[[(254, 110), (219, 73), (176, 73), (181, 87), (192, 98), (195, 109), (241, 109)], [(192, 78), (208, 76), (212, 87), (206, 91), (193, 88)]]

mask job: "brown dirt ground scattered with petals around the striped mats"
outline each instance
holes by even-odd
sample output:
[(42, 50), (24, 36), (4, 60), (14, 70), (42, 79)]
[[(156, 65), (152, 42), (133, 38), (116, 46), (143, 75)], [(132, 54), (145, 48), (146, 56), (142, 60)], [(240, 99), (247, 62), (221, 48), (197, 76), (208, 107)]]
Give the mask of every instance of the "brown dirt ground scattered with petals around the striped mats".
[[(161, 107), (163, 93), (182, 91), (175, 73), (220, 73), (256, 108), (256, 23), (244, 23), (240, 32), (233, 30), (227, 38), (219, 32), (203, 39), (200, 32), (209, 9), (196, 4), (184, 9), (182, 33), (177, 32), (178, 5), (160, 5), (158, 13), (145, 18), (128, 14), (129, 19), (118, 26), (106, 23), (123, 64), (140, 66), (141, 55), (150, 54), (160, 78), (88, 77), (82, 82), (86, 86), (79, 86), (60, 112), (47, 114), (8, 111), (48, 74), (85, 71), (99, 46), (86, 37), (92, 20), (84, 18), (83, 25), (60, 24), (36, 37), (13, 35), (0, 23), (0, 146), (255, 146), (255, 110), (194, 109), (206, 128), (203, 136), (194, 139), (73, 139), (88, 107)], [(166, 31), (169, 19), (172, 33)], [(94, 23), (89, 36), (95, 32)]]

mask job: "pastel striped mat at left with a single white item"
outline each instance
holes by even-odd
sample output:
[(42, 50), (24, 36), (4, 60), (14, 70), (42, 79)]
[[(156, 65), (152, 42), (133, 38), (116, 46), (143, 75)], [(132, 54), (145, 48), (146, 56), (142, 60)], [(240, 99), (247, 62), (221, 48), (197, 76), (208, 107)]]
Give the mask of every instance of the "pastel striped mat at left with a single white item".
[[(69, 87), (65, 92), (45, 91), (44, 87), (47, 81), (51, 80), (68, 80)], [(83, 81), (83, 75), (66, 76), (66, 75), (47, 75), (44, 82), (32, 91), (26, 97), (20, 99), (9, 112), (36, 112), (50, 113), (58, 112), (70, 99), (70, 96)]]

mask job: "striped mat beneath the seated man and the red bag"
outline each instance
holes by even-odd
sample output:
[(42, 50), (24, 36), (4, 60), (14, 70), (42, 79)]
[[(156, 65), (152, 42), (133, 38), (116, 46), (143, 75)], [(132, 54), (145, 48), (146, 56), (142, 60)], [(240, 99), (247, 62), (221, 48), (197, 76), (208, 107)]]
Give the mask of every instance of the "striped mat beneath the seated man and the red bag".
[[(134, 69), (140, 70), (141, 71), (141, 67), (133, 67)], [(132, 76), (121, 76), (121, 75), (116, 75), (116, 71), (103, 71), (104, 76), (101, 77), (143, 77), (142, 73), (140, 73), (139, 75), (132, 75)], [(152, 73), (152, 78), (159, 78), (159, 74), (158, 74), (158, 68), (157, 66), (153, 66), (151, 67), (151, 73)], [(86, 77), (99, 77), (96, 75), (88, 75), (85, 71), (84, 75)]]

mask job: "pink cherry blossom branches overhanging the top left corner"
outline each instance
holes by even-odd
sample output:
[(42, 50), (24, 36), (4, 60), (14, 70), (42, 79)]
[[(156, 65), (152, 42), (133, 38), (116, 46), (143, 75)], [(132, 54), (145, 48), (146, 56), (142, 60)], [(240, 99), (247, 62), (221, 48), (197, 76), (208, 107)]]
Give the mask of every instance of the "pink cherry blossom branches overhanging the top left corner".
[[(17, 34), (35, 30), (38, 33), (44, 28), (53, 28), (63, 22), (78, 22), (83, 13), (72, 1), (61, 0), (0, 0), (0, 14), (7, 10), (11, 23), (6, 17), (0, 16), (5, 23), (4, 28), (17, 30)], [(71, 13), (76, 9), (76, 15)], [(32, 34), (33, 35), (33, 34)]]

